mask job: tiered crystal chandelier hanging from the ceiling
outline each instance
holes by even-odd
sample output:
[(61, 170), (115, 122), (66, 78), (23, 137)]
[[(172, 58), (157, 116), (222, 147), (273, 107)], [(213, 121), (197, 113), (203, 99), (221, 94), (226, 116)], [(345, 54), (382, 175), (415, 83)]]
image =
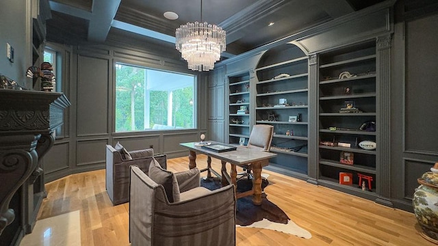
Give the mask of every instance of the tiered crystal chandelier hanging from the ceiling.
[(225, 51), (225, 31), (222, 27), (202, 23), (203, 2), (201, 0), (201, 23), (181, 25), (175, 33), (177, 50), (194, 71), (209, 71)]

